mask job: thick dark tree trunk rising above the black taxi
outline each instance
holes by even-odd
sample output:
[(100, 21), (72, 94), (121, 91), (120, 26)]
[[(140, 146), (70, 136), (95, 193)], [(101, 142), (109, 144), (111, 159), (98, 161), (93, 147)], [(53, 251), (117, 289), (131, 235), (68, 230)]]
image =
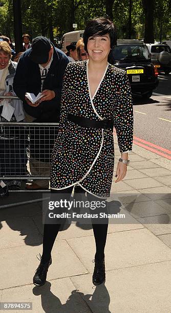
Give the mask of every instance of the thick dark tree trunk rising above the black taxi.
[(145, 13), (144, 42), (154, 43), (154, 0), (142, 0)]

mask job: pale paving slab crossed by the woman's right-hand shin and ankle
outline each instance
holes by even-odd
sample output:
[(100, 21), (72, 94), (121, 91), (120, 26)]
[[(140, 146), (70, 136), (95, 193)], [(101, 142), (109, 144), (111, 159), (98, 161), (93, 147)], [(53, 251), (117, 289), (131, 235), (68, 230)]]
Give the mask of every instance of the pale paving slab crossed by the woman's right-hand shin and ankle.
[[(81, 262), (93, 273), (94, 236), (67, 240)], [(171, 250), (145, 228), (108, 234), (105, 247), (106, 271), (171, 260)]]

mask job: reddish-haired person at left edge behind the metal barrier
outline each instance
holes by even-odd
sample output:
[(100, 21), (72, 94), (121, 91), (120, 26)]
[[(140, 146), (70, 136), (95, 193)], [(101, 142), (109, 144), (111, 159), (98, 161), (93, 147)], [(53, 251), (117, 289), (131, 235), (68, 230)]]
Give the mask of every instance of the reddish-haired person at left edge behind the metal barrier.
[[(0, 41), (0, 96), (15, 96), (13, 78), (17, 63), (11, 61), (11, 48), (7, 41)], [(24, 120), (22, 101), (0, 99), (0, 121), (22, 122)], [(26, 172), (26, 151), (22, 144), (22, 129), (15, 126), (1, 126), (0, 130), (0, 175), (20, 176)], [(0, 184), (0, 194), (5, 195), (10, 189), (18, 189), (18, 180), (4, 181)], [(7, 186), (6, 186), (7, 185)]]

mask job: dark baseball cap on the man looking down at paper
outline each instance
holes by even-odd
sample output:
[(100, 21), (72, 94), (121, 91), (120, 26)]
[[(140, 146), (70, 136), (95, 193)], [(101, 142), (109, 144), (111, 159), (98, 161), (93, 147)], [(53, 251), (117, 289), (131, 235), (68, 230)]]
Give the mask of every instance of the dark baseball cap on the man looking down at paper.
[(51, 50), (51, 42), (48, 38), (38, 36), (33, 39), (29, 58), (37, 64), (48, 62), (49, 51)]

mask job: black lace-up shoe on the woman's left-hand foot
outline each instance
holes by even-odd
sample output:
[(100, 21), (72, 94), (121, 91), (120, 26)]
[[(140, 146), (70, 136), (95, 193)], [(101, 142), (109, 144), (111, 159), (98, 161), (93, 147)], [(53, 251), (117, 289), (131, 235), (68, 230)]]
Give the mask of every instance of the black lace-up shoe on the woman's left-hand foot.
[(35, 271), (35, 275), (33, 277), (33, 284), (36, 286), (42, 286), (46, 283), (47, 273), (49, 266), (52, 264), (52, 258), (46, 263), (41, 261), (41, 255), (39, 254), (40, 259), (37, 257), (37, 259), (40, 261), (40, 264), (37, 267), (37, 270)]

